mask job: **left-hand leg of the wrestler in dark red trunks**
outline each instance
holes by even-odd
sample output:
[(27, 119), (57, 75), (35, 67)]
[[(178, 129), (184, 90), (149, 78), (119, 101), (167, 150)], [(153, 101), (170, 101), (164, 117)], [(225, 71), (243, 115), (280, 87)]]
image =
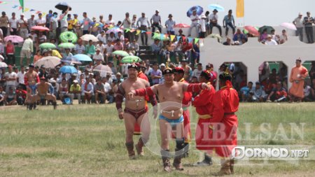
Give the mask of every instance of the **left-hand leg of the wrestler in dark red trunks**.
[(134, 124), (136, 123), (136, 118), (130, 113), (124, 113), (124, 120), (125, 120), (125, 128), (126, 128), (126, 148), (128, 150), (128, 155), (130, 159), (135, 158), (134, 153), (134, 141), (132, 136), (134, 134)]

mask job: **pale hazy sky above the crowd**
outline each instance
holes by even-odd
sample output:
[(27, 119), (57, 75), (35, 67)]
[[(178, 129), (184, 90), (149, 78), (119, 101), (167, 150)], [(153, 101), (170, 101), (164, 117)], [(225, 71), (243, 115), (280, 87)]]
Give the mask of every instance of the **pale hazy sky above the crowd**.
[[(6, 0), (2, 0), (6, 1)], [(208, 5), (218, 3), (225, 8), (225, 12), (219, 12), (220, 24), (225, 14), (229, 9), (233, 10), (235, 15), (236, 0), (64, 0), (72, 7), (70, 13), (78, 13), (79, 19), (82, 19), (82, 13), (87, 12), (87, 15), (92, 18), (93, 16), (99, 17), (104, 15), (106, 20), (109, 13), (113, 14), (113, 20), (123, 20), (125, 13), (129, 12), (131, 15), (141, 15), (141, 12), (146, 13), (149, 19), (155, 13), (155, 9), (160, 10), (162, 16), (162, 23), (165, 23), (169, 13), (172, 13), (173, 19), (177, 22), (190, 24), (190, 19), (186, 17), (186, 12), (191, 6), (202, 6), (204, 13), (209, 10)], [(25, 8), (34, 8), (43, 12), (48, 10), (57, 11), (55, 5), (61, 1), (51, 0), (25, 0)], [(314, 10), (315, 1), (312, 0), (244, 0), (245, 3), (245, 17), (236, 18), (236, 24), (262, 26), (265, 24), (276, 26), (282, 22), (292, 22), (297, 13), (301, 12), (306, 14), (308, 10)], [(20, 16), (21, 10), (12, 8), (13, 5), (19, 4), (18, 0), (10, 1), (7, 4), (0, 4), (0, 9), (5, 10), (10, 17), (10, 13), (15, 11)], [(315, 14), (315, 10), (311, 13)], [(30, 16), (30, 12), (25, 13), (26, 17)], [(312, 16), (314, 16), (312, 14)]]

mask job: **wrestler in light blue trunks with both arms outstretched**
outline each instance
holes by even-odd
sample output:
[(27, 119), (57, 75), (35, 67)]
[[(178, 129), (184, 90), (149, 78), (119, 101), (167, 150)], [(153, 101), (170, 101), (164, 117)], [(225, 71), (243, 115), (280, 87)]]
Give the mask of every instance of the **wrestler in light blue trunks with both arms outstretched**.
[[(181, 164), (181, 158), (188, 150), (185, 148), (185, 138), (183, 132), (183, 108), (181, 103), (183, 101), (184, 92), (200, 92), (200, 90), (210, 89), (206, 83), (200, 84), (188, 84), (188, 83), (177, 83), (174, 81), (174, 72), (172, 69), (165, 69), (163, 71), (165, 83), (153, 85), (152, 87), (141, 88), (138, 90), (132, 90), (127, 94), (128, 99), (134, 99), (134, 97), (154, 95), (158, 94), (160, 100), (160, 134), (162, 141), (162, 162), (164, 170), (167, 172), (172, 171), (171, 164), (169, 161), (169, 139), (170, 132), (175, 129), (173, 134), (176, 134), (176, 149), (173, 166), (176, 170), (183, 170)], [(169, 102), (174, 104), (170, 105)], [(163, 104), (164, 103), (164, 104)], [(180, 105), (180, 106), (179, 106)]]

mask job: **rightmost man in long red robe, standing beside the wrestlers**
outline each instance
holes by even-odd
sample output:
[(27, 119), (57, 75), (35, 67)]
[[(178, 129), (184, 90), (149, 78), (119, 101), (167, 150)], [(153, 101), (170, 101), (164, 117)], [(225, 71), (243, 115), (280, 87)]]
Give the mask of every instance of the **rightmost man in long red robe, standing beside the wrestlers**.
[[(221, 170), (218, 175), (234, 174), (234, 160), (232, 159), (232, 149), (237, 146), (237, 112), (239, 108), (239, 96), (232, 88), (232, 76), (230, 73), (221, 73), (219, 85), (221, 90), (214, 94), (214, 112), (210, 119), (210, 132), (216, 154), (223, 158), (221, 160)], [(224, 133), (224, 134), (223, 134)]]

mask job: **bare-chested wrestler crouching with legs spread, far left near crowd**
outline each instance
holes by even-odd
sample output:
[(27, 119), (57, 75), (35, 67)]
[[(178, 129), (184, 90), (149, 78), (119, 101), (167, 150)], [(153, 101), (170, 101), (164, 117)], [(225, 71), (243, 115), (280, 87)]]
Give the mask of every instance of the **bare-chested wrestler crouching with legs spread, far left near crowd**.
[[(41, 99), (46, 99), (47, 101), (52, 101), (52, 106), (54, 109), (57, 108), (57, 101), (54, 94), (54, 87), (50, 83), (47, 83), (45, 77), (41, 78), (41, 82), (36, 84), (37, 94), (33, 97), (33, 107), (35, 108), (36, 101)], [(49, 91), (49, 92), (48, 92)]]

